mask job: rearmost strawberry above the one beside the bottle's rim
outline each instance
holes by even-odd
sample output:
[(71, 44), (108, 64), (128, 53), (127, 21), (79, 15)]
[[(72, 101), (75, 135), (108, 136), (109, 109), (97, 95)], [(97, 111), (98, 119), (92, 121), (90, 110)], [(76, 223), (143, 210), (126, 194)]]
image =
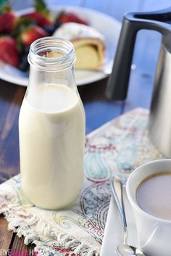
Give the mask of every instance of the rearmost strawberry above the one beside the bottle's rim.
[(46, 17), (45, 15), (41, 14), (41, 12), (30, 12), (27, 15), (23, 15), (22, 17), (28, 17), (36, 21), (36, 24), (39, 25), (41, 28), (44, 28), (48, 25), (54, 25), (54, 23)]

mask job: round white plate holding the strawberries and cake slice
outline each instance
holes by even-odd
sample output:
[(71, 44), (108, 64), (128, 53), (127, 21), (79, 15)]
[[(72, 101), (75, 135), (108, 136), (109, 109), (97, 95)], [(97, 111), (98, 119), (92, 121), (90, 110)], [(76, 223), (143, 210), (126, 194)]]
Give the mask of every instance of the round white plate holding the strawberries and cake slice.
[[(96, 28), (96, 30), (99, 30), (99, 32), (104, 35), (106, 44), (106, 58), (104, 62), (104, 70), (108, 68), (109, 70), (111, 69), (117, 41), (120, 36), (120, 22), (115, 20), (113, 17), (105, 15), (104, 13), (96, 12), (92, 9), (86, 9), (83, 7), (56, 6), (49, 7), (49, 9), (53, 10), (54, 13), (59, 12), (61, 9), (72, 10), (74, 12), (78, 12), (78, 14), (80, 15), (83, 15), (83, 17), (86, 17), (90, 25), (93, 28)], [(33, 11), (33, 9), (25, 9), (17, 13), (18, 15), (24, 15), (31, 11)], [(101, 80), (106, 76), (107, 74), (101, 71), (75, 70), (75, 78), (78, 86), (86, 83), (92, 83), (96, 80)], [(0, 78), (21, 86), (28, 85), (27, 73), (23, 73), (12, 66), (4, 65), (4, 63), (2, 62), (0, 63)]]

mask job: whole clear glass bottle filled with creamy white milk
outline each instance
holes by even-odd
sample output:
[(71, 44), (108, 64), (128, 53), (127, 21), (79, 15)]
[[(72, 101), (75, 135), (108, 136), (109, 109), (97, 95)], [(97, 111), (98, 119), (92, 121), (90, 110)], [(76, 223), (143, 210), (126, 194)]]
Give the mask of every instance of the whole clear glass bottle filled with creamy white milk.
[(33, 42), (30, 77), (19, 117), (22, 189), (46, 209), (74, 204), (83, 184), (85, 113), (73, 73), (70, 41)]

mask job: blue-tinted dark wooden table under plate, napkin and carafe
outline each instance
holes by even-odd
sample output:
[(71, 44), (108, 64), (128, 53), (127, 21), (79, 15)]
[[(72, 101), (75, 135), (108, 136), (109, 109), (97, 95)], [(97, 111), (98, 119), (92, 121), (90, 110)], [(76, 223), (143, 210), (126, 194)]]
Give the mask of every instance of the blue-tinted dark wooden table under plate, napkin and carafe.
[[(28, 2), (25, 1), (24, 4)], [(58, 2), (60, 4), (60, 1)], [(158, 4), (155, 8), (149, 7), (148, 0), (82, 0), (62, 1), (62, 4), (63, 2), (65, 2), (65, 4), (75, 4), (98, 9), (117, 17), (118, 20), (121, 20), (123, 13), (130, 9), (159, 9), (170, 5), (168, 0), (162, 1), (162, 3), (161, 1), (154, 0), (153, 6)], [(20, 1), (18, 1), (18, 4), (16, 1), (15, 4), (16, 8), (22, 7)], [(147, 38), (148, 44), (146, 43)], [(152, 32), (150, 33), (149, 31), (140, 33), (133, 59), (136, 68), (132, 71), (130, 76), (128, 99), (125, 102), (114, 102), (105, 98), (104, 93), (107, 86), (107, 78), (78, 88), (86, 110), (86, 133), (93, 131), (100, 125), (122, 113), (132, 110), (134, 107), (149, 108), (158, 49), (159, 35)], [(146, 54), (144, 54), (144, 52), (146, 52)], [(16, 86), (0, 80), (0, 183), (20, 172), (18, 115), (24, 95), (25, 87)], [(23, 239), (19, 239), (16, 234), (7, 231), (7, 221), (1, 215), (0, 250), (14, 249), (15, 251), (21, 252), (30, 248), (33, 248), (33, 245), (26, 247), (25, 244), (23, 244)]]

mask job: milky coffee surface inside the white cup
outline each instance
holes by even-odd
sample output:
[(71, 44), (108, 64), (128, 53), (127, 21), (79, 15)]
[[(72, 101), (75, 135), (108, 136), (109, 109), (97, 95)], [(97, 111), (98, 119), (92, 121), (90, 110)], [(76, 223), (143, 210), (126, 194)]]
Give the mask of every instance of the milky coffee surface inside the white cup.
[(171, 171), (154, 173), (141, 181), (137, 201), (150, 215), (171, 220)]

